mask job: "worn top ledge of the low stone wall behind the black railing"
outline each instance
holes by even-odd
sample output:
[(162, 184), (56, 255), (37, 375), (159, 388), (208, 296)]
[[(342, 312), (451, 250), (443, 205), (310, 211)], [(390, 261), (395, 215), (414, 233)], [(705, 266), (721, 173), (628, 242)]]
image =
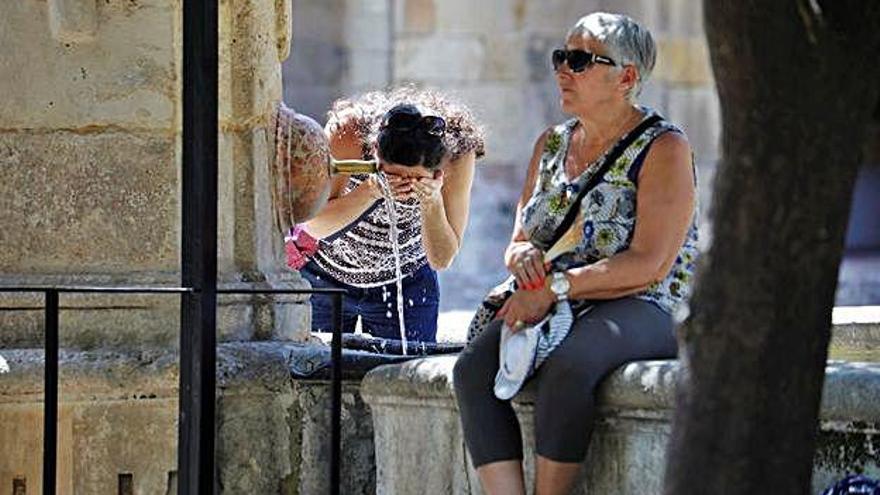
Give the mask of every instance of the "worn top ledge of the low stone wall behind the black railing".
[[(0, 349), (0, 405), (42, 403), (43, 350)], [(369, 370), (409, 359), (346, 349), (343, 380), (359, 381)], [(177, 398), (179, 353), (170, 348), (59, 352), (59, 400)], [(227, 342), (217, 346), (220, 395), (288, 391), (291, 380), (326, 383), (330, 348), (281, 341)], [(308, 378), (303, 374), (309, 373)]]

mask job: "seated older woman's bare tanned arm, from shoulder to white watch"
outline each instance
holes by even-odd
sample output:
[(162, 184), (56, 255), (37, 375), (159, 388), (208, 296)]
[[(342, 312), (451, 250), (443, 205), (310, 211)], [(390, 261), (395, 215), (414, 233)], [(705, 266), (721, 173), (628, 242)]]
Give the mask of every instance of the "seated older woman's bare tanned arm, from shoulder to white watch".
[(654, 142), (639, 174), (636, 225), (629, 248), (568, 270), (572, 299), (613, 299), (663, 280), (672, 268), (693, 218), (696, 188), (684, 136)]

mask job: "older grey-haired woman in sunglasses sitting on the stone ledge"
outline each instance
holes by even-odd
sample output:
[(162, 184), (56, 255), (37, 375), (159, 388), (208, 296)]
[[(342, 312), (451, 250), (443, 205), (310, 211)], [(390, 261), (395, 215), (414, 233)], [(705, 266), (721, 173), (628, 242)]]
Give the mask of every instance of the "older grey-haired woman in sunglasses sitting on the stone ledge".
[[(697, 254), (696, 184), (684, 133), (635, 104), (655, 53), (644, 27), (605, 13), (580, 19), (552, 53), (573, 118), (535, 144), (505, 253), (513, 283), (478, 311), (472, 330), (481, 333), (455, 366), (465, 440), (488, 494), (525, 493), (519, 424), (496, 397), (503, 333), (561, 309), (574, 315), (532, 375), (539, 495), (571, 490), (602, 378), (628, 361), (676, 355), (672, 313)], [(572, 245), (548, 256), (572, 231)]]

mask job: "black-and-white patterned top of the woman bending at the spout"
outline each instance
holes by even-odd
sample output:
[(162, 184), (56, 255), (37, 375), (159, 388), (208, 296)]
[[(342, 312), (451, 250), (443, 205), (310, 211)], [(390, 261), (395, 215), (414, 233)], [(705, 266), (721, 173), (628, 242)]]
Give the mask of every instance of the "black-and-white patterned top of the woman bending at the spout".
[[(345, 187), (351, 192), (366, 175), (353, 175)], [(385, 199), (376, 200), (345, 228), (321, 239), (312, 257), (318, 267), (335, 280), (353, 287), (378, 287), (396, 280), (391, 245), (391, 220)], [(395, 201), (397, 235), (403, 276), (428, 263), (422, 247), (422, 217), (417, 199)]]

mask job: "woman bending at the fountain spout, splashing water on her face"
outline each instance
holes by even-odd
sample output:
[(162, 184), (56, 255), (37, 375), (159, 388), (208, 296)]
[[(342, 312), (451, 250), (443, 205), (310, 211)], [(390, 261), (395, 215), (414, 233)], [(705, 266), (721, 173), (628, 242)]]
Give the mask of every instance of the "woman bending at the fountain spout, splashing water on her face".
[[(373, 336), (401, 339), (403, 323), (406, 339), (435, 342), (436, 270), (461, 248), (484, 152), (479, 125), (449, 97), (406, 87), (336, 101), (325, 131), (335, 159), (376, 157), (381, 172), (334, 178), (327, 205), (305, 225), (320, 246), (302, 274), (348, 292), (344, 332), (360, 319)], [(329, 297), (313, 295), (312, 330), (329, 331), (331, 314)]]

